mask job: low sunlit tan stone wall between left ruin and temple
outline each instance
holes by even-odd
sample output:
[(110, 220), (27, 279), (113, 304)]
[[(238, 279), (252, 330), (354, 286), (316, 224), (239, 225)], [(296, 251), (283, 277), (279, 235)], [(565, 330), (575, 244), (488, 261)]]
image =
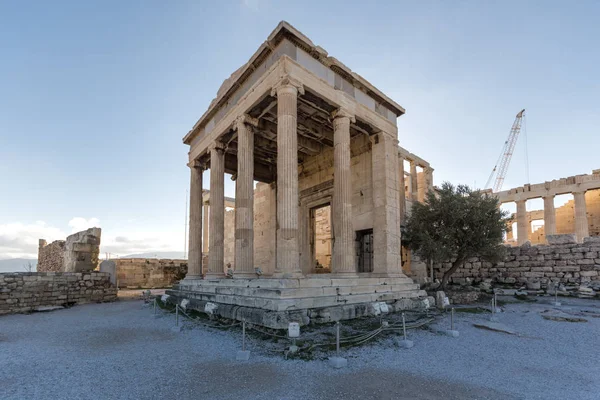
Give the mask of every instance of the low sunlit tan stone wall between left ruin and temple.
[(187, 260), (118, 258), (111, 261), (116, 264), (119, 288), (171, 287), (187, 273)]

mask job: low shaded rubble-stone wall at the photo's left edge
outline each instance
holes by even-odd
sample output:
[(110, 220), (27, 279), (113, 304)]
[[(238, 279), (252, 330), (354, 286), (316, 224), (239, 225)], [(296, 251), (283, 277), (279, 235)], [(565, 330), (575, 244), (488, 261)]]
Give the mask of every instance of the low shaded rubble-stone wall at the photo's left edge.
[(103, 272), (17, 272), (0, 274), (0, 315), (40, 307), (115, 301), (117, 289)]

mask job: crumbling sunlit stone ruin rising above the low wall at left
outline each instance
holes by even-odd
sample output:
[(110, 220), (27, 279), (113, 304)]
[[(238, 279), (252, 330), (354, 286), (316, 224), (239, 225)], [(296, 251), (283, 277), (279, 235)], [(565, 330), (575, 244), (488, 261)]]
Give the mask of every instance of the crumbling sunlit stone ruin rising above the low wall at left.
[(90, 228), (49, 245), (40, 239), (37, 271), (83, 272), (97, 269), (101, 234), (100, 228)]

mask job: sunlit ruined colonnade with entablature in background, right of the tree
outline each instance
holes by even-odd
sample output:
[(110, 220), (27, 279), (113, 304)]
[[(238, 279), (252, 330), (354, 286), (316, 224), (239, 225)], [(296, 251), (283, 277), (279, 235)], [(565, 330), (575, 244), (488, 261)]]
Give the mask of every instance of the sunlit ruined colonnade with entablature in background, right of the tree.
[(527, 242), (530, 236), (531, 225), (527, 222), (527, 200), (544, 199), (544, 232), (546, 235), (557, 233), (556, 210), (554, 196), (560, 194), (573, 194), (574, 199), (574, 232), (578, 242), (590, 236), (590, 221), (586, 204), (586, 192), (600, 189), (600, 170), (594, 170), (589, 175), (576, 175), (568, 178), (555, 179), (534, 185), (524, 185), (518, 188), (495, 193), (500, 203), (515, 202), (517, 204), (517, 244)]

